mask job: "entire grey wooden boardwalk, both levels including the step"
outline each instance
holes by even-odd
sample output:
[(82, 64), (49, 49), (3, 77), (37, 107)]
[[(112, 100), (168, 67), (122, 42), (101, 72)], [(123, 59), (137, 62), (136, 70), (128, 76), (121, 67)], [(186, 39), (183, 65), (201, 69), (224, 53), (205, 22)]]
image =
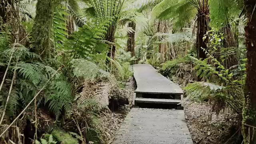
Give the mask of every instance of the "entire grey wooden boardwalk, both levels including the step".
[[(159, 74), (151, 65), (134, 65), (137, 89), (135, 103), (174, 104), (180, 99), (144, 98), (147, 94), (182, 95), (182, 89)], [(135, 96), (136, 96), (135, 95)], [(179, 97), (179, 98), (183, 98)], [(119, 129), (113, 144), (193, 144), (184, 110), (132, 108)]]

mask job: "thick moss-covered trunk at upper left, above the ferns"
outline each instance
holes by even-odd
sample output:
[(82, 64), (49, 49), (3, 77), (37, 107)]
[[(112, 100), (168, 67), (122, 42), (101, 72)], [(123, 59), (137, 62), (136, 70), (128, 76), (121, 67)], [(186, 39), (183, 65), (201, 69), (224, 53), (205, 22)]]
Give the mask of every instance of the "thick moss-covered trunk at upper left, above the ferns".
[(53, 0), (38, 0), (36, 4), (36, 17), (31, 33), (32, 51), (42, 57), (50, 57), (53, 30)]

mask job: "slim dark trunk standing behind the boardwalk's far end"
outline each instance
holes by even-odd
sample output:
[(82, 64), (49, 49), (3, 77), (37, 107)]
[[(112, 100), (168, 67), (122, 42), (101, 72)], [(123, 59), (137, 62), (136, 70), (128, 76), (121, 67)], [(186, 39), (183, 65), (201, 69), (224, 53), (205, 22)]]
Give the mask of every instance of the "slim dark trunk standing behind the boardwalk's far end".
[(135, 29), (136, 29), (136, 24), (135, 22), (129, 22), (128, 27), (132, 27), (132, 30), (134, 32), (128, 32), (128, 40), (127, 40), (127, 52), (131, 52), (132, 57), (134, 56), (134, 48), (135, 48)]

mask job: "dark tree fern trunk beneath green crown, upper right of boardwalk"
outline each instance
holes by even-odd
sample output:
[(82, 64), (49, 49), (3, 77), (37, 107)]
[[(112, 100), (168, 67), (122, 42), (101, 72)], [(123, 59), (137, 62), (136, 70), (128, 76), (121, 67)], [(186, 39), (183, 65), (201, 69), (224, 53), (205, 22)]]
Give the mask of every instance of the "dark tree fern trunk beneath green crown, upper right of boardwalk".
[(198, 58), (205, 59), (206, 54), (202, 48), (207, 49), (206, 40), (203, 40), (204, 34), (209, 29), (209, 9), (205, 12), (198, 12), (197, 18), (197, 35), (196, 35), (196, 51)]

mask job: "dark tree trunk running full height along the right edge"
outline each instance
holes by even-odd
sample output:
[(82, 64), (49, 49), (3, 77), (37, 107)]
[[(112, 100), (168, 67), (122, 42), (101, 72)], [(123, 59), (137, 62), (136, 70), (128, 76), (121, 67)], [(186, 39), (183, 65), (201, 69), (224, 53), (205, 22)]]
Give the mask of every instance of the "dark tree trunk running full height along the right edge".
[[(247, 25), (245, 26), (245, 41), (247, 50), (245, 103), (243, 108), (242, 132), (244, 144), (256, 144), (256, 132), (251, 126), (256, 126), (256, 1), (244, 0)], [(246, 124), (246, 125), (244, 125)], [(248, 126), (250, 125), (250, 126)]]

